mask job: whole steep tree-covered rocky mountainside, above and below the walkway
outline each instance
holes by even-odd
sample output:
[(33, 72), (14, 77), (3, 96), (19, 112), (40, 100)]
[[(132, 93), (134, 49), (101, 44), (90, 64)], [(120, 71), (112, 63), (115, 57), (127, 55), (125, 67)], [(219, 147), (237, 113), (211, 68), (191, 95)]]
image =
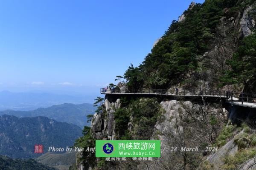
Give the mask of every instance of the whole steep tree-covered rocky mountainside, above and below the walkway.
[[(121, 90), (231, 90), (256, 93), (255, 0), (206, 0), (191, 3), (174, 20), (151, 53), (124, 74)], [(132, 62), (132, 61), (131, 61)], [(121, 76), (117, 76), (120, 80)], [(119, 97), (119, 98), (118, 98)], [(103, 100), (103, 99), (102, 99)], [(76, 141), (161, 140), (161, 158), (153, 161), (106, 161), (83, 152), (81, 170), (254, 170), (256, 168), (255, 109), (226, 105), (224, 100), (106, 94), (91, 127)], [(251, 113), (251, 116), (248, 116)], [(230, 116), (231, 115), (231, 116)], [(239, 115), (243, 119), (233, 117)], [(237, 118), (237, 119), (236, 119)], [(253, 122), (249, 126), (249, 123)], [(199, 152), (172, 152), (171, 147), (198, 146)], [(207, 152), (205, 147), (218, 147)]]

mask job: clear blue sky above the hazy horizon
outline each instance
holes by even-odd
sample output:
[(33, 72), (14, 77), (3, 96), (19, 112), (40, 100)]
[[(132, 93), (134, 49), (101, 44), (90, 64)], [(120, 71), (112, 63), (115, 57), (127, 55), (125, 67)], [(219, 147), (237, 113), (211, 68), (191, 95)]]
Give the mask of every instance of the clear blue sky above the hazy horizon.
[(2, 0), (0, 91), (98, 94), (139, 65), (190, 3)]

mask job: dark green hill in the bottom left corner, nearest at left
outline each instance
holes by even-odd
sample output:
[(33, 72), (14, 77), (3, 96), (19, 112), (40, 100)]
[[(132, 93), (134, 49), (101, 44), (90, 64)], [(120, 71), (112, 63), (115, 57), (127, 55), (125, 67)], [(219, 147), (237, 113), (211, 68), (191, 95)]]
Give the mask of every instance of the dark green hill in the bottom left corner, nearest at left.
[(38, 163), (34, 159), (12, 159), (0, 156), (0, 170), (56, 170)]

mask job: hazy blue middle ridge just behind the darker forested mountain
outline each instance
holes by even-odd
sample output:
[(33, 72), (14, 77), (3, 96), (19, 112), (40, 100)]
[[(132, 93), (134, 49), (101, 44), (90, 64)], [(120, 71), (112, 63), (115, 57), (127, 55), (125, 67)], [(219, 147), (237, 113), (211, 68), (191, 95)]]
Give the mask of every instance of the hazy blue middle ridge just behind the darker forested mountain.
[(67, 122), (78, 125), (83, 129), (84, 125), (88, 125), (86, 116), (93, 114), (95, 107), (92, 104), (74, 105), (64, 103), (62, 105), (54, 105), (49, 108), (38, 108), (34, 111), (0, 111), (0, 115), (8, 114), (17, 117), (35, 117), (46, 116), (59, 122)]

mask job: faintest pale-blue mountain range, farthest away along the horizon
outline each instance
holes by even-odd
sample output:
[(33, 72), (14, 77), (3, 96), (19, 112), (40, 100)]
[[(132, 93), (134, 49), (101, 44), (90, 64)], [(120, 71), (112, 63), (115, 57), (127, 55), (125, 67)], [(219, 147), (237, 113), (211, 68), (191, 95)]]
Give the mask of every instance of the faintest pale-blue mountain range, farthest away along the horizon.
[(37, 108), (47, 108), (62, 103), (93, 103), (95, 96), (86, 95), (61, 95), (51, 93), (13, 93), (10, 91), (0, 92), (0, 111), (12, 109), (15, 111), (31, 111)]

